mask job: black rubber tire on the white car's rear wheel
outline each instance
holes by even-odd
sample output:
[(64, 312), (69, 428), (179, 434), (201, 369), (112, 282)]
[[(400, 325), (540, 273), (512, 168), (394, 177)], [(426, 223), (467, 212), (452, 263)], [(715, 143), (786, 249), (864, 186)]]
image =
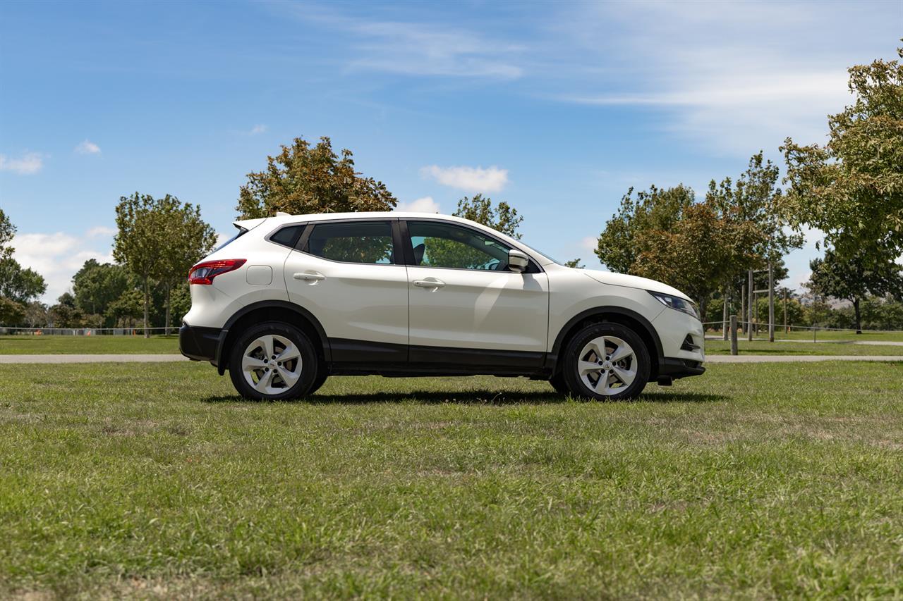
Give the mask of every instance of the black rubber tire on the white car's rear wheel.
[[(259, 369), (252, 368), (253, 374), (246, 374), (242, 369), (242, 361), (245, 358), (246, 350), (258, 338), (266, 339), (267, 337), (282, 339), (270, 338), (273, 344), (272, 351), (276, 353), (276, 357), (278, 357), (278, 353), (281, 350), (284, 350), (284, 341), (287, 340), (294, 347), (297, 347), (298, 359), (289, 359), (285, 361), (285, 365), (282, 365), (282, 362), (278, 362), (277, 366), (273, 356), (265, 357), (264, 347), (258, 345), (248, 356), (252, 360), (256, 359), (267, 366), (261, 366)], [(296, 363), (296, 361), (300, 361), (300, 364)], [(228, 374), (232, 380), (232, 385), (243, 397), (255, 401), (285, 401), (301, 398), (311, 392), (312, 386), (317, 381), (321, 371), (324, 371), (317, 353), (313, 349), (311, 339), (305, 336), (300, 329), (279, 321), (268, 321), (247, 328), (247, 330), (242, 332), (229, 352), (228, 365)], [(270, 373), (271, 367), (273, 368), (272, 374)], [(295, 373), (297, 374), (297, 379), (291, 383), (291, 376)], [(282, 374), (286, 374), (285, 378)], [(269, 378), (269, 381), (265, 380), (264, 390), (258, 390), (253, 384), (248, 382), (248, 378), (252, 381), (256, 378), (258, 383), (261, 378)]]

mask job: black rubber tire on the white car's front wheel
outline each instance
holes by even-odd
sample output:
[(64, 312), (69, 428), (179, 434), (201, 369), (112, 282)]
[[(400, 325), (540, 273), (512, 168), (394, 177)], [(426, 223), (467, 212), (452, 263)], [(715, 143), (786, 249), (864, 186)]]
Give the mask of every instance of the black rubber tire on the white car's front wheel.
[[(595, 351), (587, 351), (588, 345), (602, 337), (617, 338), (625, 343), (623, 352), (630, 351), (630, 355), (610, 363), (610, 357), (617, 357), (618, 347), (611, 340), (603, 341), (600, 352), (605, 356), (596, 356)], [(629, 347), (629, 348), (627, 348)], [(608, 355), (614, 352), (615, 355)], [(583, 328), (571, 338), (564, 352), (563, 378), (574, 396), (596, 401), (621, 401), (636, 398), (643, 392), (649, 380), (649, 369), (652, 363), (649, 351), (643, 340), (630, 328), (617, 323), (595, 323)], [(587, 382), (584, 382), (579, 370), (581, 361), (591, 361), (600, 365), (599, 372), (590, 372)], [(610, 368), (605, 369), (606, 366)], [(634, 373), (633, 379), (625, 384), (625, 379), (618, 374)], [(597, 387), (592, 386), (593, 376), (598, 375), (595, 381)], [(629, 379), (629, 378), (627, 378)], [(606, 386), (610, 388), (606, 391)]]

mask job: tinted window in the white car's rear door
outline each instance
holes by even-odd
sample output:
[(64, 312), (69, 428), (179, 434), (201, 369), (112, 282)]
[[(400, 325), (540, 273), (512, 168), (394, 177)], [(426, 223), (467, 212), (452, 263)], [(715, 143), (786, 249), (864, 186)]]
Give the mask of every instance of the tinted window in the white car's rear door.
[(389, 221), (322, 223), (313, 227), (305, 252), (343, 263), (394, 264)]

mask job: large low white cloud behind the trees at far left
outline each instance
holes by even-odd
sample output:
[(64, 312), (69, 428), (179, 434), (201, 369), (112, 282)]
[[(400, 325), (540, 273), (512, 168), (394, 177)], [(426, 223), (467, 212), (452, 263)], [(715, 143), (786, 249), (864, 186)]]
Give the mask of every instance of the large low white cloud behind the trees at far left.
[[(97, 259), (100, 263), (111, 263), (113, 254), (109, 245), (98, 240), (104, 234), (101, 228), (94, 227), (84, 236), (72, 236), (57, 232), (55, 234), (17, 234), (12, 245), (15, 248), (14, 258), (23, 267), (31, 267), (44, 277), (47, 291), (43, 302), (54, 303), (60, 295), (70, 290), (72, 276), (81, 269), (88, 259)], [(98, 250), (102, 248), (103, 250)]]

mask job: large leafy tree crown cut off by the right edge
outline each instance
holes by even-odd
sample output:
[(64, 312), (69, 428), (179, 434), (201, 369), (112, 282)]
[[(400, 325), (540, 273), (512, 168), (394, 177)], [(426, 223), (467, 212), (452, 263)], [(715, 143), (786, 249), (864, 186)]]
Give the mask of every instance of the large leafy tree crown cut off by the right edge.
[(828, 116), (828, 143), (781, 147), (790, 190), (780, 206), (794, 226), (823, 230), (839, 257), (873, 264), (903, 253), (903, 62), (849, 73), (856, 101)]

